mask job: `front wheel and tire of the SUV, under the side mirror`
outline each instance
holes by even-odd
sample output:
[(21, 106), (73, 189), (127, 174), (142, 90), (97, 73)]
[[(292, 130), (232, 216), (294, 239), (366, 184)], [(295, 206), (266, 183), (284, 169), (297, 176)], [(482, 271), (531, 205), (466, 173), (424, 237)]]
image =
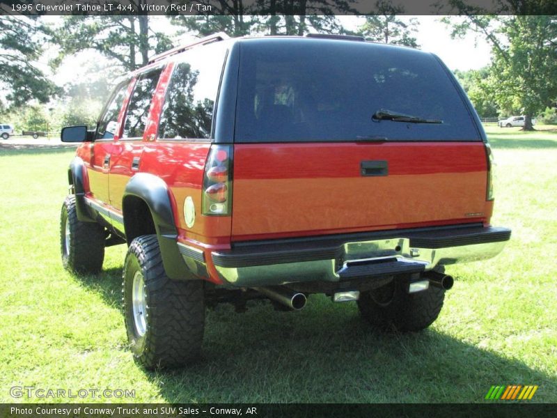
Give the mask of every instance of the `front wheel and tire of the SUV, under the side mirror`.
[(107, 234), (95, 222), (77, 219), (75, 196), (68, 196), (60, 216), (60, 250), (66, 270), (79, 273), (97, 273), (104, 261), (104, 241)]

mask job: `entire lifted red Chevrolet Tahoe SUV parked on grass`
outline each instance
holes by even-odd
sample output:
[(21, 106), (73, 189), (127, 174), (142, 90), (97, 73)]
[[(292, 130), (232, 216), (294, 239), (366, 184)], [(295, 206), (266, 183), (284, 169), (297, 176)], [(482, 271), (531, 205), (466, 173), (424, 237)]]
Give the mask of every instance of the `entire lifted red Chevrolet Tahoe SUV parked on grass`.
[(444, 267), (499, 254), (492, 154), (429, 53), (357, 37), (229, 39), (155, 56), (119, 80), (70, 164), (66, 268), (126, 243), (125, 325), (152, 369), (201, 353), (205, 307), (356, 301), (372, 325), (439, 315)]

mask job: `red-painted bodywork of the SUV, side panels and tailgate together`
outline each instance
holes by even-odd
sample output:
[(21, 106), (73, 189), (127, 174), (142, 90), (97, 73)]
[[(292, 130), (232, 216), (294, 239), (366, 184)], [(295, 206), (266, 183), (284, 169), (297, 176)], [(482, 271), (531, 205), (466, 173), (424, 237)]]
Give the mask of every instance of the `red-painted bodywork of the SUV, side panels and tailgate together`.
[[(204, 251), (207, 280), (221, 283), (211, 253), (230, 249), (235, 240), (489, 224), (493, 202), (485, 201), (487, 166), (481, 142), (236, 144), (233, 215), (201, 215), (210, 144), (156, 139), (172, 70), (173, 63), (168, 63), (162, 71), (142, 140), (119, 139), (139, 75), (135, 72), (113, 141), (82, 144), (77, 155), (85, 162), (88, 196), (116, 212), (121, 212), (125, 185), (135, 173), (162, 178), (168, 185), (178, 241)], [(111, 156), (109, 169), (103, 167), (105, 155)], [(134, 157), (140, 158), (139, 170), (132, 170)], [(216, 157), (223, 161), (228, 155), (221, 151)], [(360, 164), (370, 160), (386, 161), (389, 175), (362, 176)], [(210, 175), (219, 181), (228, 173), (217, 167)], [(196, 211), (191, 228), (183, 215), (187, 196)]]

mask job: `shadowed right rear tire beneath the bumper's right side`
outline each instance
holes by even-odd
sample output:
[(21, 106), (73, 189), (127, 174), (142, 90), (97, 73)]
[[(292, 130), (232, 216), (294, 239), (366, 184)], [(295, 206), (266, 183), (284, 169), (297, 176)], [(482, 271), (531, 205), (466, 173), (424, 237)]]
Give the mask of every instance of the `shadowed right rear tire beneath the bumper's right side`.
[(445, 291), (430, 286), (426, 291), (408, 293), (407, 286), (407, 279), (399, 277), (362, 293), (358, 300), (361, 316), (382, 330), (411, 332), (429, 327), (441, 312)]

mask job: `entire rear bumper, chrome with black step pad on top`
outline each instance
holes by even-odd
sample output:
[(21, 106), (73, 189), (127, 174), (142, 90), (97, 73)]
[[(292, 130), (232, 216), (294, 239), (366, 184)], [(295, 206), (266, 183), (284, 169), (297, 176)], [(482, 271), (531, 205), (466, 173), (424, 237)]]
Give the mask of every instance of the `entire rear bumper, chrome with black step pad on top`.
[(212, 261), (221, 279), (233, 286), (334, 282), (485, 260), (499, 254), (509, 239), (509, 229), (478, 225), (382, 231), (241, 243), (214, 251)]

